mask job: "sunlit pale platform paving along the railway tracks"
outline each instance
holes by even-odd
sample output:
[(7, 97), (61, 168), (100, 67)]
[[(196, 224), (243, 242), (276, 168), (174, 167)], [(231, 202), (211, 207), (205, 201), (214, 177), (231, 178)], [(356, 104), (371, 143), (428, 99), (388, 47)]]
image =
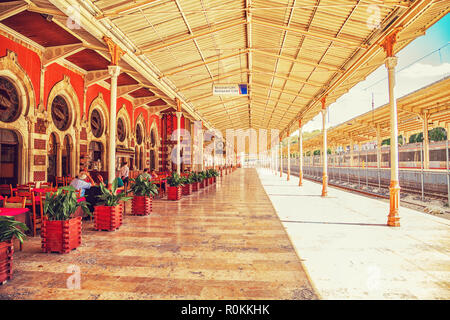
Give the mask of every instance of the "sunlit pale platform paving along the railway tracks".
[(257, 170), (322, 299), (450, 298), (449, 220), (401, 207), (388, 227), (387, 200)]

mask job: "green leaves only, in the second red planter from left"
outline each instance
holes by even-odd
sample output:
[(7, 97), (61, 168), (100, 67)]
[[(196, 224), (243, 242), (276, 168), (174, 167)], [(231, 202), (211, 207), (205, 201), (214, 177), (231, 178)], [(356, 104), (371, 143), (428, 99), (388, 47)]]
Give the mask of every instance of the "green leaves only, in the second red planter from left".
[(55, 193), (47, 192), (45, 195), (44, 214), (50, 221), (69, 220), (78, 207), (91, 215), (86, 201), (77, 201), (76, 190), (72, 186), (61, 187)]

